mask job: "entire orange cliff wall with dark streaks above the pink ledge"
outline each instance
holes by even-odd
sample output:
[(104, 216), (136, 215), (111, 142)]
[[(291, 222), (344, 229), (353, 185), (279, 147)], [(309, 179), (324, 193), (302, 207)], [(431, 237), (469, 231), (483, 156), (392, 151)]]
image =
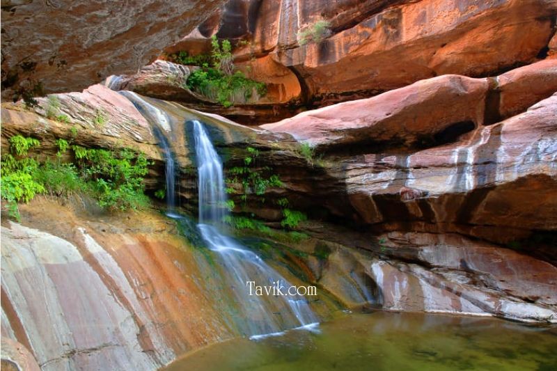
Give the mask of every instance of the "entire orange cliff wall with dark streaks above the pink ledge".
[[(225, 10), (172, 50), (206, 52), (207, 38), (214, 34), (249, 40), (236, 51), (240, 66), (270, 57), (299, 80), (299, 92), (288, 91), (292, 84), (283, 86), (287, 95), (322, 105), (440, 74), (489, 76), (532, 63), (554, 49), (551, 19), (557, 6), (548, 0), (255, 3), (229, 1), (235, 12)], [(228, 19), (238, 17), (242, 31), (234, 33)], [(311, 30), (322, 19), (329, 22), (326, 38), (301, 45), (299, 31)], [(254, 69), (251, 74), (271, 82), (282, 73)]]

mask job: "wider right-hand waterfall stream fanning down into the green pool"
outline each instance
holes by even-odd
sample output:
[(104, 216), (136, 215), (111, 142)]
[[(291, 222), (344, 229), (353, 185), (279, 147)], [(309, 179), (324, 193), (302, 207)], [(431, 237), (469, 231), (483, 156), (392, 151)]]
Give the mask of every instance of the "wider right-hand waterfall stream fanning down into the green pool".
[(198, 228), (207, 246), (218, 253), (230, 274), (233, 291), (248, 319), (251, 338), (281, 334), (289, 328), (311, 329), (317, 318), (301, 295), (257, 296), (250, 294), (248, 282), (279, 285), (287, 292), (292, 285), (269, 267), (256, 253), (249, 251), (218, 228), (226, 215), (223, 166), (209, 136), (198, 120), (193, 120), (199, 178)]

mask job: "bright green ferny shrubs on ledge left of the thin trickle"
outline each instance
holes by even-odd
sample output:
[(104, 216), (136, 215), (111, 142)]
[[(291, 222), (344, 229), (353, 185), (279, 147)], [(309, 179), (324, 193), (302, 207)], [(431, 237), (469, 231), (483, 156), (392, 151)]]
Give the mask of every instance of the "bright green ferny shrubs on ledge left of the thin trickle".
[(8, 214), (15, 219), (19, 220), (17, 203), (28, 203), (36, 194), (68, 196), (79, 191), (93, 196), (102, 207), (118, 210), (136, 209), (148, 203), (143, 193), (148, 161), (142, 153), (72, 145), (75, 164), (63, 163), (62, 153), (70, 145), (57, 139), (56, 161), (47, 159), (40, 164), (28, 154), (40, 145), (37, 139), (17, 135), (8, 141), (9, 151), (1, 157), (1, 198)]

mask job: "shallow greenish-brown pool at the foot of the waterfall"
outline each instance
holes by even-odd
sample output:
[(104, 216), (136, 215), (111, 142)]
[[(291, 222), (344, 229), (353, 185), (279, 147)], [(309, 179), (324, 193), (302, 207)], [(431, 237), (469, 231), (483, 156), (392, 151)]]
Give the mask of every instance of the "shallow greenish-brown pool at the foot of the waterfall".
[(557, 370), (555, 327), (377, 312), (346, 315), (320, 330), (229, 340), (165, 370)]

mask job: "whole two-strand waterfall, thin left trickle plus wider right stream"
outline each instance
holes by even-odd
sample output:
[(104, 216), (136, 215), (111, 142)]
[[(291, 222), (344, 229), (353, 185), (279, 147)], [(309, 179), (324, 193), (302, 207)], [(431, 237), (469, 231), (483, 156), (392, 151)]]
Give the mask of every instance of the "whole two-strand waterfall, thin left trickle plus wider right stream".
[[(167, 215), (174, 219), (185, 219), (175, 214), (175, 160), (165, 132), (171, 132), (171, 118), (159, 107), (129, 91), (120, 91), (150, 121), (153, 132), (162, 148), (166, 162)], [(251, 338), (260, 338), (282, 333), (285, 329), (314, 329), (317, 318), (301, 295), (257, 296), (250, 294), (248, 283), (277, 285), (284, 292), (292, 285), (269, 267), (256, 253), (249, 251), (235, 239), (224, 235), (217, 228), (226, 216), (223, 166), (221, 159), (198, 120), (194, 125), (194, 140), (199, 177), (199, 224), (198, 230), (207, 247), (219, 255), (224, 268), (223, 276), (232, 288), (236, 307), (240, 308), (237, 325), (240, 331)]]

